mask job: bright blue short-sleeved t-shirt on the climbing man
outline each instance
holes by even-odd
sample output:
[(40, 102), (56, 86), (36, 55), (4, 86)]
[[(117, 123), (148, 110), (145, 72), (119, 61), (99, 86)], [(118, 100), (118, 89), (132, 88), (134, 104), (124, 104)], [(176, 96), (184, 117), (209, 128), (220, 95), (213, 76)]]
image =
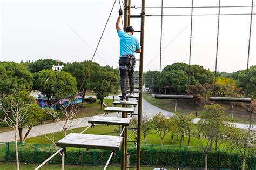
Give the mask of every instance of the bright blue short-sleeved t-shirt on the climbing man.
[(120, 38), (120, 56), (135, 56), (135, 50), (140, 49), (139, 40), (133, 35), (130, 35), (122, 30), (118, 31), (118, 36)]

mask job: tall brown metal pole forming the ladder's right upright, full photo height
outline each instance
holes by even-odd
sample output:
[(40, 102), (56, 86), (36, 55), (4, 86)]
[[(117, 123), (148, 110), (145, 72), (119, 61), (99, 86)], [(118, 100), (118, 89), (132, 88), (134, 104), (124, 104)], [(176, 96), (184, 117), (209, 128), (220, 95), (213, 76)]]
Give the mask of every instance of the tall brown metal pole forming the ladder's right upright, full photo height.
[(143, 54), (144, 54), (144, 23), (145, 23), (145, 0), (142, 0), (142, 13), (140, 24), (140, 52), (139, 62), (139, 106), (138, 106), (138, 132), (137, 132), (137, 170), (140, 169), (140, 137), (142, 132), (142, 86), (143, 86)]

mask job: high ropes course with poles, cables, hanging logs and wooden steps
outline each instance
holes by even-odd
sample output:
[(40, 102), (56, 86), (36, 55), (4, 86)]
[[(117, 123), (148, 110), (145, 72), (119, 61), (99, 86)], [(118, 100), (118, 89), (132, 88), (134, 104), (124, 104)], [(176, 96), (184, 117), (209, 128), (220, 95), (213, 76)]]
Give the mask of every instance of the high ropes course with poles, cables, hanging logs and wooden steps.
[[(113, 8), (116, 4), (116, 1), (114, 1), (112, 9), (110, 11), (109, 17), (107, 18), (106, 24), (104, 26), (102, 35), (100, 36), (100, 39), (98, 41), (97, 47), (95, 49), (95, 52), (93, 53), (91, 63), (85, 73), (85, 76), (83, 78), (83, 83), (80, 87), (79, 92), (83, 90), (83, 84), (87, 77), (87, 74), (89, 73), (91, 69), (92, 60), (95, 57), (96, 51), (98, 49), (98, 46), (100, 44), (100, 41), (104, 35), (107, 23), (109, 22), (111, 13), (113, 11)], [(90, 126), (86, 127), (82, 132), (80, 133), (70, 133), (63, 139), (60, 139), (57, 142), (57, 146), (60, 147), (57, 152), (51, 155), (48, 159), (46, 159), (41, 165), (36, 167), (35, 169), (41, 168), (46, 162), (51, 160), (55, 155), (58, 153), (61, 153), (62, 155), (62, 169), (64, 169), (65, 164), (65, 154), (66, 154), (66, 147), (74, 147), (74, 148), (86, 148), (86, 149), (102, 149), (102, 150), (109, 150), (112, 151), (110, 154), (109, 159), (106, 162), (106, 165), (104, 169), (107, 168), (109, 165), (109, 162), (114, 155), (114, 153), (118, 152), (119, 149), (121, 149), (121, 169), (127, 169), (127, 168), (133, 168), (133, 169), (140, 169), (140, 138), (141, 138), (141, 124), (142, 124), (142, 86), (143, 86), (143, 54), (144, 54), (144, 22), (145, 22), (145, 16), (161, 16), (161, 34), (160, 34), (160, 77), (161, 77), (161, 45), (162, 45), (162, 35), (163, 35), (163, 16), (191, 16), (191, 29), (190, 29), (190, 55), (189, 55), (189, 62), (188, 62), (188, 85), (190, 85), (190, 66), (191, 66), (191, 45), (192, 45), (192, 23), (193, 23), (193, 16), (211, 16), (211, 15), (217, 15), (218, 16), (218, 30), (217, 30), (217, 47), (216, 47), (216, 60), (215, 60), (215, 76), (214, 76), (214, 89), (216, 90), (216, 73), (217, 73), (217, 59), (218, 59), (218, 41), (219, 41), (219, 22), (220, 22), (220, 16), (221, 15), (251, 15), (250, 19), (250, 32), (249, 32), (249, 41), (248, 41), (248, 53), (247, 53), (247, 71), (246, 71), (246, 84), (248, 84), (248, 65), (249, 65), (249, 58), (250, 58), (250, 45), (251, 45), (251, 30), (252, 30), (252, 16), (255, 15), (253, 13), (253, 0), (251, 6), (221, 6), (219, 0), (218, 6), (193, 6), (193, 0), (191, 0), (191, 6), (163, 6), (163, 0), (161, 0), (161, 6), (154, 7), (154, 6), (145, 6), (145, 0), (142, 0), (142, 4), (139, 7), (131, 6), (131, 0), (125, 0), (122, 1), (123, 9), (124, 9), (124, 21), (122, 19), (123, 29), (130, 25), (130, 19), (131, 18), (140, 18), (140, 30), (136, 30), (134, 32), (140, 33), (140, 45), (141, 47), (141, 53), (139, 56), (139, 59), (136, 59), (136, 61), (139, 61), (139, 88), (137, 90), (138, 94), (134, 94), (133, 96), (130, 96), (127, 94), (126, 100), (127, 103), (122, 103), (120, 101), (114, 101), (113, 107), (106, 107), (104, 109), (105, 113), (101, 116), (95, 116), (91, 118), (88, 123), (91, 123)], [(122, 4), (119, 0), (119, 6), (122, 8)], [(221, 8), (246, 8), (251, 7), (251, 13), (226, 13), (221, 14), (220, 9)], [(131, 9), (141, 9), (140, 15), (130, 15)], [(161, 8), (161, 14), (146, 14), (145, 9), (146, 8)], [(172, 14), (172, 15), (163, 15), (163, 9), (168, 8), (190, 8), (191, 14)], [(218, 14), (193, 14), (194, 8), (218, 8), (219, 12)], [(160, 83), (160, 79), (159, 79)], [(160, 86), (159, 86), (160, 87)], [(246, 85), (247, 87), (247, 85)], [(160, 89), (159, 89), (160, 92)], [(216, 94), (216, 93), (215, 93)], [(162, 94), (156, 94), (153, 96), (156, 99), (193, 99), (193, 96), (191, 95), (162, 95)], [(251, 99), (247, 98), (248, 93), (246, 90), (246, 98), (230, 98), (230, 97), (211, 97), (211, 101), (230, 101), (230, 102), (247, 102), (250, 103)], [(131, 99), (131, 100), (129, 100)], [(117, 107), (117, 105), (122, 105), (122, 107)], [(135, 114), (135, 108), (138, 105), (138, 114)], [(107, 117), (106, 115), (110, 112), (118, 112), (122, 113), (122, 117)], [(132, 116), (138, 117), (138, 125), (137, 128), (129, 128), (130, 125), (130, 119)], [(119, 136), (111, 136), (111, 135), (95, 135), (95, 134), (84, 134), (86, 130), (88, 130), (90, 127), (94, 127), (95, 124), (105, 124), (105, 125), (120, 125), (122, 126), (122, 131), (120, 132)], [(127, 130), (133, 130), (133, 133), (137, 132), (137, 140), (129, 141), (127, 140)], [(135, 131), (135, 132), (134, 132)], [(134, 154), (127, 153), (127, 143), (132, 142), (133, 144), (136, 144), (137, 146), (137, 152)], [(127, 165), (127, 155), (133, 155), (137, 157), (137, 165), (136, 167), (129, 167)]]

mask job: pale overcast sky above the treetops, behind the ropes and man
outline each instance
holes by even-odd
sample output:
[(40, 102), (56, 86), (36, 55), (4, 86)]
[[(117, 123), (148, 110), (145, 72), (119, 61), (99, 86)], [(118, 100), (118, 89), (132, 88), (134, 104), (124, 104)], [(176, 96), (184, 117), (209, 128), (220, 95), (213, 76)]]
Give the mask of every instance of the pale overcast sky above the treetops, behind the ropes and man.
[[(1, 0), (0, 0), (1, 1)], [(83, 1), (1, 1), (0, 60), (20, 62), (45, 58), (63, 62), (90, 60), (103, 31), (114, 0)], [(132, 6), (140, 1), (131, 0)], [(218, 0), (194, 0), (194, 6), (218, 6)], [(251, 5), (251, 0), (221, 0), (221, 6)], [(161, 6), (160, 0), (146, 0), (146, 6)], [(191, 0), (164, 0), (164, 6), (191, 6)], [(116, 67), (119, 38), (114, 26), (119, 3), (98, 47), (94, 62)], [(160, 9), (146, 9), (146, 14), (160, 14)], [(164, 9), (164, 14), (190, 14), (191, 9)], [(251, 8), (221, 8), (221, 13), (250, 13)], [(140, 9), (132, 9), (139, 15)], [(218, 13), (214, 9), (194, 9), (194, 13)], [(254, 9), (256, 13), (256, 9)], [(188, 63), (190, 16), (164, 16), (162, 68), (175, 62)], [(191, 64), (215, 69), (218, 16), (194, 16)], [(135, 30), (138, 18), (131, 18)], [(246, 69), (250, 15), (220, 16), (218, 71)], [(73, 31), (74, 30), (74, 31)], [(85, 43), (83, 40), (87, 43)], [(139, 33), (134, 33), (139, 39)], [(256, 15), (253, 16), (249, 65), (256, 65)], [(160, 16), (145, 18), (144, 71), (159, 70)], [(139, 57), (139, 56), (137, 56)], [(138, 70), (138, 66), (137, 69)]]

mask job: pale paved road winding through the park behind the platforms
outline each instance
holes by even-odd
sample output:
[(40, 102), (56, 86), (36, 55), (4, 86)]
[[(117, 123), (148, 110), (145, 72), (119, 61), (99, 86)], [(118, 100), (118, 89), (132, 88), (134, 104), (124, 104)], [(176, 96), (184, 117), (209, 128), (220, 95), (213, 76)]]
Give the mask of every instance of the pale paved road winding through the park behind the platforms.
[[(107, 97), (109, 99), (113, 99), (113, 96)], [(118, 96), (115, 96), (115, 99), (118, 99)], [(159, 112), (162, 112), (165, 116), (170, 116), (174, 115), (174, 113), (165, 111), (161, 108), (158, 108), (156, 106), (153, 106), (152, 104), (148, 103), (146, 100), (143, 99), (143, 114), (146, 114), (148, 117), (152, 117), (152, 115), (157, 114)], [(138, 113), (138, 106), (136, 107), (136, 113)], [(111, 117), (116, 117), (117, 113), (111, 113), (108, 116)], [(91, 117), (86, 117), (86, 118), (79, 118), (75, 119), (73, 122), (76, 126), (73, 126), (72, 128), (79, 128), (79, 127), (86, 127), (89, 126), (90, 124), (87, 123), (87, 121)], [(197, 123), (197, 121), (200, 120), (199, 118), (194, 119), (194, 123)], [(240, 123), (234, 123), (237, 125), (238, 128), (241, 129), (248, 129), (248, 125), (246, 124), (240, 124)], [(29, 133), (29, 137), (36, 137), (42, 134), (47, 134), (47, 133), (53, 133), (53, 132), (59, 132), (62, 131), (62, 126), (60, 126), (59, 123), (51, 123), (51, 124), (46, 124), (46, 125), (38, 125), (36, 127), (33, 127), (31, 129), (31, 132)], [(256, 131), (256, 127), (254, 127), (254, 130)], [(23, 133), (25, 133), (24, 131)], [(0, 142), (10, 142), (14, 141), (14, 131), (8, 131), (8, 132), (2, 132), (0, 133)]]

